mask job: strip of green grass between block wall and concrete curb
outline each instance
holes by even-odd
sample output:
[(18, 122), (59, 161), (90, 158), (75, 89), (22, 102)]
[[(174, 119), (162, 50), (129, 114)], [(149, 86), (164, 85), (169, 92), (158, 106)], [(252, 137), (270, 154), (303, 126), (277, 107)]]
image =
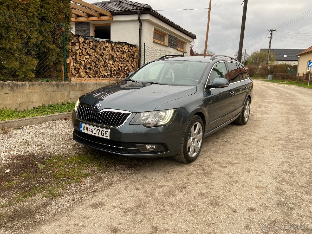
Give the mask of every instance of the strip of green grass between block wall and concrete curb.
[(59, 104), (50, 104), (50, 105), (43, 105), (39, 106), (34, 109), (30, 110), (11, 110), (7, 108), (0, 109), (0, 121), (2, 120), (9, 120), (9, 119), (20, 119), (20, 118), (27, 118), (27, 117), (34, 117), (34, 116), (41, 116), (41, 115), (51, 115), (56, 113), (62, 112), (70, 112), (74, 109), (75, 103), (67, 102)]

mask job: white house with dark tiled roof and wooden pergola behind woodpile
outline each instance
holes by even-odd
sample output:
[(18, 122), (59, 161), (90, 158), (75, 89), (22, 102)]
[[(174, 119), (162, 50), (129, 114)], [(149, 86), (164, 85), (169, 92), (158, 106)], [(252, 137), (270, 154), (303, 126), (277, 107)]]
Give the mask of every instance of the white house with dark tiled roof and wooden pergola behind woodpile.
[[(80, 0), (73, 2), (82, 4), (75, 7), (74, 3), (71, 3), (73, 13), (71, 26), (75, 34), (123, 41), (142, 47), (146, 43), (148, 47), (185, 55), (189, 55), (190, 43), (196, 39), (195, 34), (178, 26), (144, 3), (110, 0), (95, 2), (92, 7)], [(83, 7), (87, 12), (82, 13)], [(96, 7), (107, 11), (108, 14), (105, 15), (105, 12), (101, 14), (100, 9)], [(92, 12), (89, 14), (89, 10), (94, 10), (100, 17), (92, 17), (95, 14)]]

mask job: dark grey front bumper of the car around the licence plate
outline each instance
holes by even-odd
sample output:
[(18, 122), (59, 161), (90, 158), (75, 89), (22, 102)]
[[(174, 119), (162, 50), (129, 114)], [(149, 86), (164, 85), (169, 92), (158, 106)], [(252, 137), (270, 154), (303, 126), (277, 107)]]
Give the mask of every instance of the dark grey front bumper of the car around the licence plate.
[[(141, 124), (129, 125), (129, 122), (134, 115), (135, 113), (132, 114), (121, 127), (111, 128), (77, 119), (76, 112), (73, 111), (73, 139), (94, 149), (131, 157), (168, 157), (178, 153), (182, 134), (187, 123), (186, 117), (176, 114), (172, 123), (167, 126), (147, 128)], [(80, 132), (80, 122), (100, 128), (110, 129), (110, 139)], [(160, 144), (163, 146), (164, 150), (156, 152), (140, 152), (139, 149), (137, 149), (136, 144)]]

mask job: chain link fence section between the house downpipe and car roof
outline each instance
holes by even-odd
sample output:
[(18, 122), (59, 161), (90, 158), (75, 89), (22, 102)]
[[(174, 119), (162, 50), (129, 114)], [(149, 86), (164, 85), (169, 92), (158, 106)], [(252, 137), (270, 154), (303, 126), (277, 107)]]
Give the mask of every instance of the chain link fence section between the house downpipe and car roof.
[(146, 46), (144, 43), (144, 45), (141, 47), (141, 64), (140, 64), (140, 66), (143, 66), (144, 64), (147, 64), (150, 61), (159, 59), (160, 57), (165, 56), (165, 55), (169, 55), (169, 54), (184, 55), (185, 53), (183, 53), (183, 52), (177, 53), (177, 52), (160, 50), (160, 49), (156, 49), (153, 47)]

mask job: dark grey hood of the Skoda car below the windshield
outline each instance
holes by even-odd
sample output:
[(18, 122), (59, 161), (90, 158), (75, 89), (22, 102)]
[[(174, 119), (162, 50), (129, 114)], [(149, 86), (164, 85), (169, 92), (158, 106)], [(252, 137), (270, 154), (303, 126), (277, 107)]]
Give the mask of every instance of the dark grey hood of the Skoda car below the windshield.
[[(124, 81), (113, 87), (102, 87), (85, 95), (80, 102), (91, 105), (94, 111), (103, 109), (143, 112), (155, 110), (167, 102), (192, 95), (196, 86), (156, 85)], [(98, 110), (94, 105), (100, 103)]]

